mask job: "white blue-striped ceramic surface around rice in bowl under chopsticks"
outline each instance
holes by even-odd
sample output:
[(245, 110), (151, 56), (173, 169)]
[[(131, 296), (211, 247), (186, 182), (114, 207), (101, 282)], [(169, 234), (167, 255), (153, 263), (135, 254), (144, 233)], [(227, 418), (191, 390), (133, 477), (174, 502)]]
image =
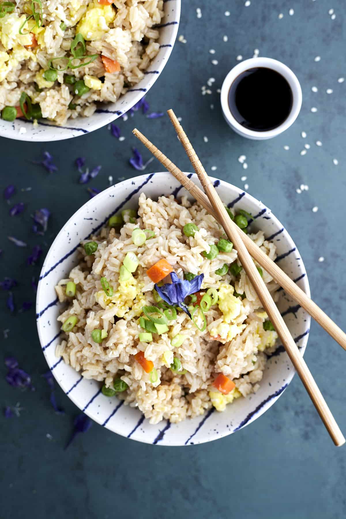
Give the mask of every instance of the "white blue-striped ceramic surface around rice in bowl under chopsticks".
[[(197, 176), (189, 177), (200, 185)], [(278, 249), (276, 263), (310, 295), (308, 278), (299, 252), (289, 234), (276, 220), (270, 209), (238, 187), (213, 179), (214, 185), (229, 207), (245, 209), (254, 214), (255, 229), (264, 231)], [(36, 302), (36, 318), (42, 351), (50, 370), (64, 392), (90, 418), (122, 436), (155, 445), (191, 445), (209, 442), (236, 432), (267, 411), (292, 380), (295, 370), (286, 352), (279, 346), (267, 363), (260, 389), (250, 398), (240, 398), (218, 413), (212, 408), (203, 416), (187, 419), (180, 424), (167, 420), (150, 425), (139, 409), (123, 405), (117, 398), (106, 398), (101, 384), (83, 379), (80, 373), (55, 356), (60, 339), (57, 317), (61, 311), (54, 285), (68, 277), (76, 265), (76, 250), (80, 240), (101, 229), (108, 218), (121, 208), (136, 208), (138, 197), (144, 192), (157, 199), (160, 195), (188, 195), (170, 173), (151, 173), (137, 176), (104, 190), (82, 206), (64, 225), (54, 240), (42, 267)], [(301, 353), (304, 352), (310, 317), (289, 295), (281, 291), (279, 308)]]

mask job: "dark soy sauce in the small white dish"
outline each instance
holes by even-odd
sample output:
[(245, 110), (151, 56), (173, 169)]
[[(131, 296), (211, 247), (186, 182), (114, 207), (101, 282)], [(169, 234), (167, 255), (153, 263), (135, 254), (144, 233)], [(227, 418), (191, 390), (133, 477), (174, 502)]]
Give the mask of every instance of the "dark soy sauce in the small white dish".
[(234, 79), (228, 94), (233, 117), (244, 128), (278, 128), (292, 110), (293, 95), (286, 79), (266, 67), (248, 69)]

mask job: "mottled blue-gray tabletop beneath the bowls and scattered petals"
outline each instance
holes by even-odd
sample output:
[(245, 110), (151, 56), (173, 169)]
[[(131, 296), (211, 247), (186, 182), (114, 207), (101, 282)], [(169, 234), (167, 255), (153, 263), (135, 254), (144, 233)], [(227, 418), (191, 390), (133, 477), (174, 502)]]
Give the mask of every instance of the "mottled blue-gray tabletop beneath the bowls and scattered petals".
[[(202, 11), (200, 19), (197, 8)], [(334, 20), (328, 14), (330, 8), (334, 8)], [(292, 16), (289, 9), (294, 9)], [(230, 16), (224, 15), (227, 10)], [(279, 19), (279, 13), (283, 18)], [(217, 166), (214, 176), (238, 186), (247, 183), (249, 193), (272, 209), (299, 248), (312, 297), (344, 326), (346, 82), (338, 83), (338, 78), (346, 76), (344, 2), (252, 0), (245, 7), (244, 0), (183, 0), (178, 34), (185, 36), (186, 43), (176, 43), (168, 65), (147, 95), (151, 111), (173, 108), (182, 117), (206, 170), (212, 173), (211, 167)], [(303, 91), (302, 110), (294, 126), (266, 142), (246, 141), (229, 130), (216, 91), (237, 63), (236, 57), (250, 58), (254, 49), (260, 56), (292, 67)], [(316, 56), (321, 60), (315, 61)], [(211, 63), (214, 59), (217, 65)], [(210, 77), (215, 78), (212, 93), (202, 96), (201, 87), (207, 86)], [(312, 92), (312, 86), (318, 91)], [(333, 93), (326, 93), (329, 88)], [(315, 113), (311, 112), (313, 106)], [(48, 250), (67, 218), (89, 196), (86, 186), (77, 183), (76, 157), (86, 157), (90, 167), (102, 165), (99, 176), (89, 184), (92, 187), (105, 188), (109, 175), (114, 181), (136, 175), (128, 163), (131, 146), (137, 145), (131, 135), (136, 126), (182, 169), (190, 169), (167, 117), (150, 120), (137, 112), (118, 124), (126, 137), (123, 142), (107, 128), (57, 143), (0, 141), (1, 186), (15, 184), (18, 194), (13, 202), (26, 204), (25, 212), (13, 218), (8, 216), (7, 204), (0, 204), (1, 273), (19, 282), (13, 290), (17, 308), (23, 301), (34, 301), (31, 278), (37, 278), (40, 265), (27, 267), (29, 251), (17, 249), (6, 237), (14, 235), (30, 245), (40, 243), (44, 252)], [(307, 133), (306, 139), (301, 132)], [(316, 146), (317, 140), (323, 145)], [(302, 156), (305, 144), (311, 147)], [(140, 144), (138, 147), (149, 158)], [(39, 160), (45, 150), (53, 155), (57, 173), (49, 175), (31, 162)], [(246, 171), (238, 161), (240, 155), (246, 155)], [(147, 171), (160, 169), (154, 162)], [(246, 181), (240, 180), (242, 175), (247, 176)], [(297, 194), (300, 184), (307, 184), (309, 190)], [(27, 186), (32, 187), (30, 192), (20, 192)], [(316, 213), (311, 210), (314, 206), (319, 208)], [(30, 218), (40, 207), (48, 207), (52, 213), (42, 238), (33, 235)], [(324, 262), (318, 261), (320, 256)], [(20, 418), (0, 418), (1, 517), (345, 517), (346, 447), (333, 446), (298, 377), (264, 416), (210, 444), (184, 448), (142, 445), (93, 424), (65, 452), (78, 409), (57, 388), (57, 399), (66, 414), (54, 414), (48, 386), (40, 376), (47, 365), (40, 351), (34, 310), (17, 310), (12, 315), (6, 308), (6, 294), (0, 296), (0, 330), (10, 330), (1, 341), (2, 356), (15, 355), (36, 387), (36, 392), (22, 393), (8, 386), (1, 366), (0, 404), (20, 402), (23, 407)], [(312, 324), (306, 360), (344, 433), (345, 354)]]

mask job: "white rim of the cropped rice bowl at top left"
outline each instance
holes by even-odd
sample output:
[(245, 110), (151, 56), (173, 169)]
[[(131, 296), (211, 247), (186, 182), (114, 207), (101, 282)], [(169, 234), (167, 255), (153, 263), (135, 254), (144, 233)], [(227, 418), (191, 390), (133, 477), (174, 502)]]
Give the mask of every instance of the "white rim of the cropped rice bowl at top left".
[[(156, 65), (156, 68), (155, 68), (155, 72), (157, 73), (151, 73), (150, 74), (150, 78), (148, 80), (148, 83), (146, 84), (146, 88), (145, 88), (145, 91), (143, 91), (143, 89), (141, 88), (141, 83), (142, 83), (142, 80), (144, 78), (141, 79), (140, 83), (138, 83), (137, 85), (139, 86), (139, 90), (138, 92), (136, 92), (133, 97), (132, 97), (132, 100), (131, 101), (127, 101), (125, 102), (124, 101), (124, 104), (122, 106), (123, 110), (120, 111), (114, 111), (112, 112), (112, 106), (114, 107), (114, 105), (119, 101), (121, 100), (122, 98), (124, 98), (127, 93), (132, 93), (133, 90), (129, 89), (126, 93), (124, 93), (122, 96), (119, 97), (119, 99), (117, 99), (116, 103), (110, 103), (110, 102), (107, 102), (107, 103), (103, 103), (103, 102), (100, 102), (100, 108), (98, 108), (99, 110), (102, 110), (101, 106), (104, 106), (103, 110), (104, 112), (102, 112), (103, 116), (102, 119), (99, 121), (99, 122), (92, 122), (92, 117), (94, 114), (92, 114), (91, 116), (89, 117), (77, 117), (76, 119), (73, 119), (74, 121), (84, 121), (86, 123), (89, 124), (88, 126), (88, 129), (86, 129), (86, 125), (83, 125), (83, 124), (80, 124), (80, 128), (77, 128), (77, 127), (68, 127), (68, 126), (58, 126), (58, 125), (55, 125), (55, 124), (48, 124), (48, 122), (45, 124), (44, 122), (40, 121), (39, 122), (39, 125), (40, 126), (49, 126), (49, 128), (57, 128), (59, 130), (59, 128), (62, 128), (62, 129), (67, 129), (67, 130), (71, 130), (71, 133), (68, 133), (68, 134), (65, 134), (65, 133), (61, 133), (61, 134), (55, 134), (53, 137), (52, 135), (50, 134), (50, 132), (41, 132), (41, 133), (32, 133), (31, 131), (26, 131), (26, 127), (28, 128), (32, 128), (32, 125), (33, 125), (33, 121), (27, 121), (26, 119), (24, 118), (18, 118), (18, 122), (21, 123), (22, 127), (25, 129), (25, 132), (24, 133), (20, 133), (19, 131), (13, 131), (13, 135), (8, 135), (8, 126), (6, 126), (3, 130), (0, 126), (0, 137), (5, 137), (7, 139), (12, 139), (12, 140), (15, 140), (15, 141), (24, 141), (24, 142), (56, 142), (56, 141), (64, 141), (64, 140), (67, 140), (67, 139), (73, 139), (75, 137), (80, 137), (82, 135), (85, 135), (85, 134), (88, 134), (88, 133), (91, 133), (95, 130), (98, 130), (100, 128), (103, 128), (104, 126), (106, 126), (107, 124), (110, 124), (110, 122), (113, 122), (115, 121), (116, 119), (118, 119), (121, 115), (124, 115), (126, 114), (129, 110), (131, 110), (131, 108), (136, 104), (138, 103), (139, 101), (141, 101), (141, 99), (149, 92), (149, 90), (151, 89), (151, 87), (154, 85), (154, 83), (156, 82), (156, 80), (158, 79), (158, 77), (161, 75), (165, 65), (167, 64), (170, 56), (171, 56), (171, 52), (173, 50), (173, 47), (174, 47), (174, 44), (175, 44), (175, 40), (176, 40), (176, 37), (177, 37), (177, 33), (178, 33), (178, 29), (179, 29), (179, 22), (180, 22), (180, 16), (181, 16), (181, 0), (163, 0), (163, 4), (171, 4), (172, 2), (174, 2), (174, 9), (175, 9), (175, 12), (174, 12), (174, 21), (171, 21), (171, 22), (168, 22), (168, 23), (163, 23), (162, 25), (159, 26), (159, 28), (164, 28), (165, 26), (167, 25), (172, 25), (172, 34), (171, 34), (171, 37), (169, 39), (169, 44), (167, 45), (164, 45), (163, 46), (163, 53), (162, 53), (162, 57), (161, 57), (161, 60), (159, 62), (159, 64)], [(149, 66), (151, 65), (151, 61), (149, 63)], [(146, 71), (146, 72), (150, 72), (150, 71)], [(147, 77), (147, 76), (145, 76)], [(107, 107), (108, 107), (108, 110), (107, 110)], [(96, 111), (98, 110), (96, 109)], [(109, 110), (110, 109), (110, 110)], [(6, 121), (4, 121), (6, 122)], [(15, 128), (15, 123), (12, 122), (12, 129), (14, 130)], [(77, 133), (75, 133), (75, 131)]]

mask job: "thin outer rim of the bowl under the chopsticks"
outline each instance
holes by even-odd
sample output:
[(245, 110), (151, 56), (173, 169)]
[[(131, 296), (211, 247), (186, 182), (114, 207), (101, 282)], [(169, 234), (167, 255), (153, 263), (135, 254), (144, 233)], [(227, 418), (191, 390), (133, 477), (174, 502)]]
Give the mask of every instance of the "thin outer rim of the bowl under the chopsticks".
[[(184, 174), (186, 175), (192, 175), (191, 173), (188, 173), (188, 172), (185, 172)], [(149, 176), (151, 177), (152, 175), (162, 175), (162, 176), (165, 176), (167, 177), (168, 179), (171, 179), (172, 180), (172, 176), (169, 172), (167, 171), (164, 171), (164, 172), (155, 172), (155, 173), (152, 173), (150, 174)], [(95, 197), (93, 197), (92, 199), (88, 200), (87, 202), (85, 202), (84, 204), (82, 204), (82, 206), (77, 209), (77, 211), (75, 211), (75, 213), (72, 214), (72, 216), (67, 220), (67, 222), (62, 226), (62, 228), (60, 229), (59, 233), (57, 234), (56, 238), (54, 238), (48, 252), (47, 252), (47, 255), (45, 257), (45, 260), (44, 260), (44, 263), (43, 263), (43, 267), (41, 268), (41, 271), (40, 271), (40, 276), (39, 276), (39, 282), (38, 282), (38, 287), (37, 287), (37, 295), (36, 295), (36, 314), (38, 314), (40, 308), (41, 308), (41, 305), (40, 305), (40, 296), (41, 296), (41, 293), (44, 291), (44, 288), (45, 288), (45, 284), (43, 283), (43, 279), (44, 279), (44, 275), (46, 274), (47, 272), (47, 258), (49, 258), (49, 256), (53, 253), (54, 249), (56, 248), (57, 244), (59, 243), (60, 241), (60, 237), (63, 236), (63, 233), (66, 229), (66, 227), (68, 227), (70, 225), (70, 223), (72, 221), (75, 220), (75, 218), (78, 216), (78, 215), (82, 215), (82, 214), (85, 214), (85, 208), (87, 206), (90, 206), (92, 207), (93, 206), (93, 203), (94, 203), (94, 200), (99, 197), (100, 200), (103, 198), (103, 197), (108, 197), (108, 195), (110, 193), (113, 193), (113, 190), (115, 188), (117, 189), (121, 189), (124, 185), (126, 184), (130, 184), (131, 185), (131, 182), (133, 180), (136, 180), (138, 181), (140, 184), (142, 184), (142, 181), (144, 182), (145, 180), (148, 179), (148, 174), (143, 174), (143, 175), (138, 175), (136, 177), (131, 177), (130, 179), (126, 179), (126, 180), (123, 180), (117, 184), (114, 184), (110, 187), (108, 187), (107, 189), (104, 189), (101, 193), (99, 193), (98, 195), (96, 195)], [(220, 184), (225, 184), (226, 186), (225, 187), (230, 187), (231, 189), (233, 189), (236, 193), (238, 193), (239, 195), (241, 195), (243, 192), (242, 189), (240, 189), (239, 187), (237, 186), (234, 186), (233, 184), (230, 184), (229, 182), (225, 181), (225, 180), (221, 180), (221, 179), (216, 179), (215, 177), (211, 177), (210, 176), (210, 179), (211, 181), (218, 181)], [(265, 209), (268, 209), (267, 206), (265, 206), (265, 204), (259, 200), (257, 200), (255, 197), (253, 197), (252, 195), (246, 193), (246, 196), (248, 199), (250, 199), (251, 201), (253, 201), (257, 206), (260, 204), (260, 207), (263, 207)], [(275, 226), (276, 227), (279, 227), (279, 228), (285, 228), (281, 222), (278, 220), (278, 218), (276, 218), (276, 216), (271, 212), (271, 210), (269, 209), (270, 211), (270, 215), (271, 215), (271, 219), (274, 221), (275, 223)], [(296, 250), (296, 253), (299, 255), (300, 257), (300, 261), (299, 261), (299, 268), (302, 272), (305, 272), (305, 276), (302, 278), (302, 290), (310, 297), (310, 286), (309, 286), (309, 280), (308, 280), (308, 275), (307, 275), (307, 272), (306, 272), (306, 269), (305, 269), (305, 265), (301, 259), (301, 256), (299, 254), (299, 251), (292, 239), (292, 237), (289, 235), (287, 229), (285, 228), (286, 230), (286, 233), (287, 233), (287, 236), (286, 236), (286, 239), (289, 243), (289, 246), (291, 248), (295, 248)], [(304, 353), (305, 353), (305, 350), (306, 350), (306, 346), (307, 346), (307, 342), (308, 342), (308, 338), (309, 338), (309, 332), (310, 332), (310, 321), (311, 321), (311, 317), (309, 314), (307, 314), (307, 317), (306, 317), (306, 320), (305, 320), (305, 334), (303, 335), (303, 337), (301, 338), (301, 346), (299, 348), (299, 351), (301, 353), (301, 355), (303, 356)], [(45, 342), (44, 342), (44, 338), (43, 338), (43, 326), (41, 326), (41, 320), (40, 319), (37, 319), (36, 320), (36, 323), (37, 323), (37, 331), (38, 331), (38, 337), (39, 337), (39, 342), (40, 342), (40, 346), (43, 347)], [(42, 350), (41, 350), (42, 351)], [(49, 369), (51, 369), (51, 366), (50, 366), (50, 363), (49, 363), (49, 360), (48, 360), (48, 356), (47, 356), (47, 350), (43, 350), (43, 353), (44, 353), (44, 356), (45, 356), (45, 359), (47, 361), (47, 364), (49, 366)], [(70, 389), (67, 385), (65, 387), (65, 384), (64, 384), (64, 381), (62, 380), (59, 380), (58, 377), (57, 377), (57, 374), (56, 374), (56, 371), (52, 371), (53, 373), (53, 376), (54, 378), (57, 380), (59, 386), (61, 387), (61, 389), (64, 391), (64, 393), (66, 394), (68, 392), (68, 390)], [(255, 411), (253, 413), (251, 413), (251, 417), (248, 418), (244, 424), (241, 424), (239, 427), (237, 427), (236, 429), (232, 430), (232, 429), (229, 429), (227, 431), (225, 431), (224, 433), (220, 433), (220, 434), (217, 434), (216, 436), (214, 436), (213, 438), (209, 438), (208, 435), (204, 436), (202, 439), (199, 440), (198, 443), (206, 443), (206, 442), (210, 442), (210, 441), (214, 441), (214, 440), (217, 440), (219, 438), (224, 438), (225, 436), (228, 436), (229, 434), (232, 434), (233, 432), (236, 432), (237, 430), (240, 430), (242, 429), (243, 427), (247, 426), (247, 425), (250, 425), (254, 420), (256, 420), (257, 418), (259, 418), (262, 414), (264, 414), (275, 402), (276, 400), (279, 399), (279, 397), (282, 395), (282, 393), (286, 390), (286, 388), (288, 387), (288, 385), (290, 384), (290, 382), (292, 381), (294, 375), (296, 374), (296, 370), (294, 368), (294, 366), (292, 366), (292, 369), (290, 370), (289, 374), (286, 376), (286, 379), (285, 379), (285, 384), (284, 386), (276, 391), (276, 393), (270, 395), (270, 398), (268, 398), (266, 401), (262, 402), (260, 407), (259, 408), (256, 408)], [(70, 398), (73, 403), (80, 409), (80, 412), (84, 412), (86, 415), (88, 415), (92, 420), (94, 420), (95, 422), (97, 422), (98, 424), (100, 425), (104, 425), (102, 424), (102, 420), (100, 420), (98, 418), (97, 415), (95, 415), (93, 412), (89, 411), (89, 410), (85, 410), (83, 411), (83, 409), (80, 407), (80, 404), (78, 403), (77, 401), (77, 398), (74, 397), (73, 394), (71, 394), (71, 392), (68, 392), (67, 394), (68, 398)], [(204, 413), (203, 417), (206, 416), (206, 412)], [(110, 431), (112, 432), (115, 432), (117, 434), (120, 434), (121, 436), (124, 436), (124, 438), (127, 438), (127, 434), (125, 432), (122, 431), (122, 426), (119, 426), (117, 427), (116, 424), (112, 424), (112, 426), (109, 426), (108, 424), (106, 424), (104, 427), (106, 427), (107, 429), (109, 429)], [(138, 439), (138, 438), (130, 438), (131, 440), (134, 440), (134, 441), (139, 441), (141, 443), (150, 443), (151, 444), (151, 441), (149, 439), (146, 439), (146, 438), (143, 438), (143, 439)], [(157, 443), (158, 445), (169, 445), (169, 446), (182, 446), (182, 443), (175, 443), (174, 440), (172, 441), (169, 441), (169, 442), (164, 442), (162, 441), (161, 443)], [(185, 444), (186, 445), (186, 444)], [(189, 444), (188, 444), (189, 445)]]

